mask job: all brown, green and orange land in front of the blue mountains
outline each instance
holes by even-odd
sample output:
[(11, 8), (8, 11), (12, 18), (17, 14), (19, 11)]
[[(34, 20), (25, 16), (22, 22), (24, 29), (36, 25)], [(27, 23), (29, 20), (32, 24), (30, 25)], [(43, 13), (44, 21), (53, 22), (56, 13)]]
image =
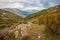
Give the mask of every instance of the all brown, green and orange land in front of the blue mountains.
[(0, 40), (60, 40), (60, 5), (26, 18), (0, 9)]

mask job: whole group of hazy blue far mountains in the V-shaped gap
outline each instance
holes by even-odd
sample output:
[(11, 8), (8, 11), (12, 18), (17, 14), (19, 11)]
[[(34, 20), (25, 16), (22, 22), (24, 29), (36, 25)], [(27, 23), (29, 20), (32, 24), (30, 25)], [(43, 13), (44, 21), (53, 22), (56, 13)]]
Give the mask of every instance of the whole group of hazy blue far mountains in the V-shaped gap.
[(28, 15), (30, 15), (31, 13), (37, 12), (38, 10), (20, 10), (18, 8), (5, 8), (4, 10), (18, 14), (22, 17), (26, 17)]

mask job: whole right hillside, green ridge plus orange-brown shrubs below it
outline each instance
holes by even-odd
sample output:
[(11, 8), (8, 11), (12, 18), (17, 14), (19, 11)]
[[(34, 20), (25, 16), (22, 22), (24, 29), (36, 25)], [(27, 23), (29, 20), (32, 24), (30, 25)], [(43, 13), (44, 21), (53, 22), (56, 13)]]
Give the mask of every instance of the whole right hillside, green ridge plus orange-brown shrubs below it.
[(44, 24), (49, 31), (60, 35), (60, 5), (32, 14), (28, 19), (33, 23)]

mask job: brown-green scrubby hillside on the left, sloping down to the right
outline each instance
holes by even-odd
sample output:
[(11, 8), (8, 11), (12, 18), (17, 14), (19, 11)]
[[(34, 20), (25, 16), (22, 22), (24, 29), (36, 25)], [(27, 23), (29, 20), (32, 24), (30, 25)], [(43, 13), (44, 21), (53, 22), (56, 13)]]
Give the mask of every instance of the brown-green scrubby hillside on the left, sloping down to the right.
[(22, 21), (22, 17), (11, 12), (0, 9), (0, 28), (11, 27)]

